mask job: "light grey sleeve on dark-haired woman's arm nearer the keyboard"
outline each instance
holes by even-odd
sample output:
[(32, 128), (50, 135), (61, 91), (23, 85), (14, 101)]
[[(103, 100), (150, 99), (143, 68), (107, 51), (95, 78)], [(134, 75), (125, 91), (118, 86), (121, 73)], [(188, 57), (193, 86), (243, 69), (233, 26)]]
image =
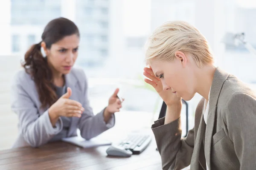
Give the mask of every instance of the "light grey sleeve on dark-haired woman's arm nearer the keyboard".
[(83, 85), (83, 94), (84, 100), (82, 105), (84, 107), (84, 112), (79, 119), (79, 130), (81, 132), (81, 136), (84, 139), (91, 139), (93, 137), (98, 136), (99, 134), (103, 133), (105, 130), (110, 129), (115, 125), (115, 116), (114, 114), (109, 119), (108, 123), (104, 121), (104, 110), (105, 108), (99, 112), (98, 114), (93, 114), (93, 109), (90, 107), (90, 102), (88, 99), (88, 83), (87, 77), (84, 74), (84, 71), (81, 70), (81, 75), (84, 79)]

